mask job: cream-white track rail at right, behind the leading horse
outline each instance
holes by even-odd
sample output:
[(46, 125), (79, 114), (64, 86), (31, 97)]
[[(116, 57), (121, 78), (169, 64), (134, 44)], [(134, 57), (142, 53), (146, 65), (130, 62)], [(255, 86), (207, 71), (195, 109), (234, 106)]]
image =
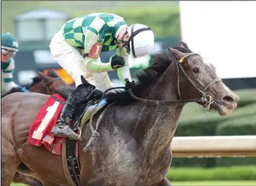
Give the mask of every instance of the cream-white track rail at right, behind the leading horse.
[(173, 157), (256, 156), (256, 135), (173, 137)]

